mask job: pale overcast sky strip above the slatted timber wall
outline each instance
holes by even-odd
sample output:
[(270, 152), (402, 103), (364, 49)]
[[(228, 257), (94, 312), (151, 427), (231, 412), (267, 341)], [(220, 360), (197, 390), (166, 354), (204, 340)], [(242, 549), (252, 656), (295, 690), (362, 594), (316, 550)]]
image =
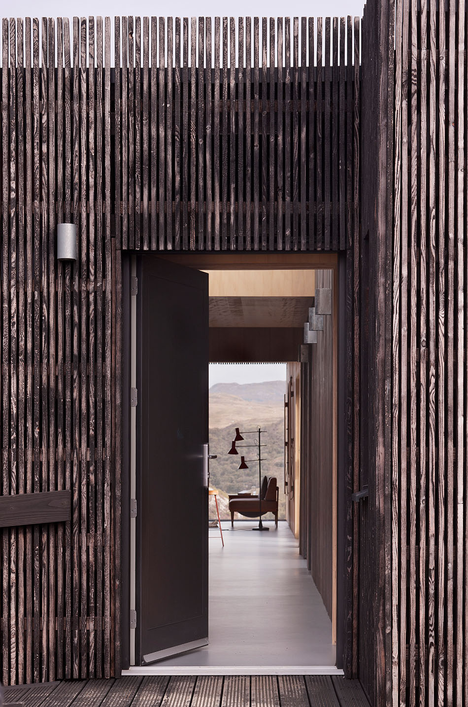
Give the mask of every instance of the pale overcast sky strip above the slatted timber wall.
[(116, 16), (116, 15), (168, 15), (172, 17), (191, 16), (337, 16), (362, 15), (363, 0), (328, 0), (323, 2), (305, 2), (305, 0), (237, 0), (215, 2), (214, 0), (172, 0), (169, 4), (158, 4), (148, 0), (80, 0), (64, 3), (63, 0), (43, 0), (39, 4), (32, 0), (16, 0), (3, 4), (2, 15), (11, 13), (16, 17), (44, 16), (57, 17), (74, 15)]

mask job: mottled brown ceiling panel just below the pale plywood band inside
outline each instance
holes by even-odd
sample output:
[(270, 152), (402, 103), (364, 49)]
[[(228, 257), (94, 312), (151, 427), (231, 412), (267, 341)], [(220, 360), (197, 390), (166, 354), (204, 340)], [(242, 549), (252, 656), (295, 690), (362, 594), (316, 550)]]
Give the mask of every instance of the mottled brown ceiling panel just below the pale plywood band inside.
[(210, 297), (210, 327), (303, 327), (312, 297)]

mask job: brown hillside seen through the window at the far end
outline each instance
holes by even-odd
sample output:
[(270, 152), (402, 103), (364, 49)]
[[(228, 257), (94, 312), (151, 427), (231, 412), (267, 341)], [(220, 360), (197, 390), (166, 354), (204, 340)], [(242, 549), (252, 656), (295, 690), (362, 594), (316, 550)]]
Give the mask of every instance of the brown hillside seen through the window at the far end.
[[(218, 489), (222, 518), (230, 518), (225, 494), (249, 490), (258, 486), (257, 448), (255, 434), (245, 435), (243, 442), (236, 443), (238, 455), (230, 455), (231, 443), (235, 437), (235, 427), (241, 431), (256, 431), (260, 426), (262, 434), (262, 476), (276, 477), (279, 486), (279, 518), (285, 517), (286, 506), (283, 496), (284, 432), (283, 432), (283, 381), (248, 383), (245, 385), (218, 383), (209, 391), (210, 403), (210, 454), (218, 455), (210, 462), (210, 485)], [(235, 391), (235, 395), (233, 394)], [(248, 469), (238, 469), (240, 456), (244, 455)], [(224, 498), (223, 498), (224, 496)], [(213, 509), (210, 508), (213, 516)], [(267, 516), (269, 518), (269, 515)]]

